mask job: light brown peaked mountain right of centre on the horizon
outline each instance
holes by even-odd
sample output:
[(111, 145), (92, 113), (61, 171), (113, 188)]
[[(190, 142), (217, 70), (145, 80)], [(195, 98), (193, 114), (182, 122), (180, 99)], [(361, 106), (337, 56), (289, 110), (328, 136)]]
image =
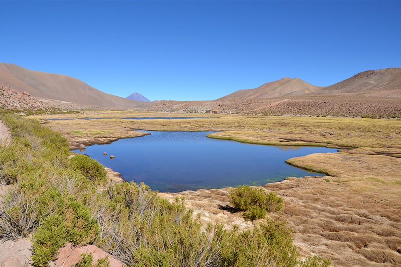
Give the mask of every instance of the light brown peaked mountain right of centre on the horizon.
[(264, 99), (285, 96), (299, 96), (320, 90), (321, 87), (308, 84), (298, 78), (283, 78), (266, 83), (255, 89), (239, 90), (218, 100)]

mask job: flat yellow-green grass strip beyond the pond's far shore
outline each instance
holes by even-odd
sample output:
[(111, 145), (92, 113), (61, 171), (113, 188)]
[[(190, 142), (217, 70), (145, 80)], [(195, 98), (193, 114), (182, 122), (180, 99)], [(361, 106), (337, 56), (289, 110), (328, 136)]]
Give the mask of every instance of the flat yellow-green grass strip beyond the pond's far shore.
[[(168, 116), (165, 113), (124, 112), (123, 116)], [(175, 114), (176, 116), (180, 114)], [(54, 115), (56, 116), (56, 115)], [(57, 115), (58, 116), (58, 115)], [(65, 115), (74, 117), (74, 114)], [(87, 112), (81, 116), (118, 117), (119, 112)], [(33, 116), (45, 119), (51, 116)], [(211, 138), (263, 145), (365, 148), (357, 153), (401, 154), (401, 121), (391, 119), (229, 116), (202, 120), (68, 120), (42, 121), (61, 132), (71, 144), (97, 144), (135, 137), (148, 131), (221, 131)], [(374, 148), (374, 149), (372, 149)]]

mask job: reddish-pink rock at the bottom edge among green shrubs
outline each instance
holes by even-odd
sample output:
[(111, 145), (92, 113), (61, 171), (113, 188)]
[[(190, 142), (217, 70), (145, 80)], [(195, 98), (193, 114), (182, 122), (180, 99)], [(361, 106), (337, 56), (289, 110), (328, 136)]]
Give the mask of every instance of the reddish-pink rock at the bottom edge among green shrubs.
[(106, 251), (100, 249), (94, 245), (84, 245), (73, 247), (72, 243), (67, 243), (66, 246), (59, 248), (59, 257), (54, 262), (57, 267), (72, 267), (81, 261), (82, 253), (92, 253), (93, 263), (96, 264), (97, 260), (108, 256), (110, 261), (110, 267), (122, 267), (124, 266), (121, 261), (112, 257)]

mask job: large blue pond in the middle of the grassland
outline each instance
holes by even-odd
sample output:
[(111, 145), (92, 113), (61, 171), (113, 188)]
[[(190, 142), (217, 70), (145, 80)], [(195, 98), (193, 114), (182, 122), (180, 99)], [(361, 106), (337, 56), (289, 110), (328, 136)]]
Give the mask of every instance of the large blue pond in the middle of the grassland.
[(160, 192), (264, 185), (289, 176), (321, 175), (285, 161), (312, 153), (336, 152), (324, 147), (251, 145), (207, 138), (212, 132), (146, 132), (151, 135), (75, 152), (120, 172), (127, 181), (144, 182)]

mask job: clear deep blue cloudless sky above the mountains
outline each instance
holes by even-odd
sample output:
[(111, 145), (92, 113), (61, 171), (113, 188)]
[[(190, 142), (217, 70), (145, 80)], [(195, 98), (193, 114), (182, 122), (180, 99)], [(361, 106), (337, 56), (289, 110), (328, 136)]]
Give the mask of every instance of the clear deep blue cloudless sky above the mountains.
[(104, 92), (213, 100), (401, 67), (401, 1), (0, 1), (0, 62)]

